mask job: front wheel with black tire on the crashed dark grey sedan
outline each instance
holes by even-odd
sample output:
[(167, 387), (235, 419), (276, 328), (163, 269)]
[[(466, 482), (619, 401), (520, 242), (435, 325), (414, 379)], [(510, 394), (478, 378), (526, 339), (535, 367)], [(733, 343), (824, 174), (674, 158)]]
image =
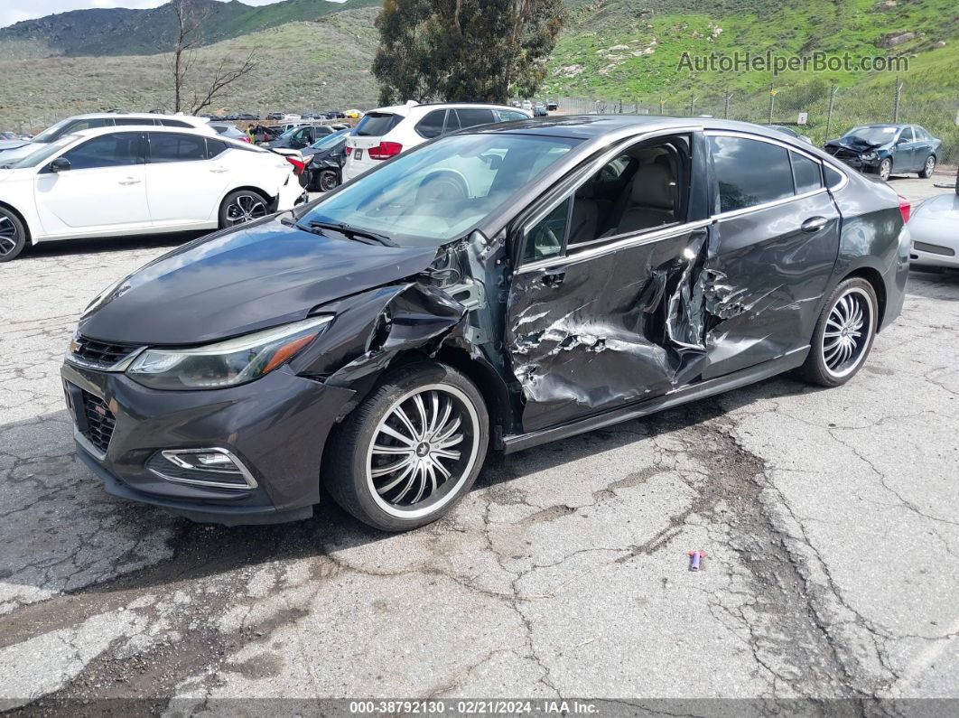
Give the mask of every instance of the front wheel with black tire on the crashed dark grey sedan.
[(337, 503), (374, 528), (408, 531), (469, 492), (486, 457), (489, 417), (473, 382), (418, 361), (387, 372), (331, 439), (324, 483)]

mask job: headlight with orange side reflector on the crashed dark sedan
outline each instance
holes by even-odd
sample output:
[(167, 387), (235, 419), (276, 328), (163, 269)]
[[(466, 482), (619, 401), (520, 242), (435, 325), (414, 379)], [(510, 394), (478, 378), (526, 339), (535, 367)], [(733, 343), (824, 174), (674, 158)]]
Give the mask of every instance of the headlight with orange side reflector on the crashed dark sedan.
[(127, 374), (154, 389), (219, 389), (252, 382), (292, 359), (333, 321), (314, 316), (195, 349), (148, 349)]

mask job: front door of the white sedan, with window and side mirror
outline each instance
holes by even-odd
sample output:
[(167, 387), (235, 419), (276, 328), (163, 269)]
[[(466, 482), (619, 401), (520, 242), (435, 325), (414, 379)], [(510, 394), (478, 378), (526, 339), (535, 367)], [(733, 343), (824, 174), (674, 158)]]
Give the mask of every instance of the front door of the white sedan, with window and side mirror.
[(51, 172), (47, 162), (35, 176), (44, 233), (115, 233), (150, 226), (141, 132), (93, 137), (60, 156), (70, 162), (70, 170)]

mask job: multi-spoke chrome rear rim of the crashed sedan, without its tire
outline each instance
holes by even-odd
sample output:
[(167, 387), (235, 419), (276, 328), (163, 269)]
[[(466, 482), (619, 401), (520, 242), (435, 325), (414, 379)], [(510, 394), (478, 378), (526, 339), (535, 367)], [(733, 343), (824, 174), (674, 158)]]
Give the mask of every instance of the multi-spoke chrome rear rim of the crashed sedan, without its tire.
[(832, 377), (851, 374), (865, 357), (876, 315), (873, 298), (854, 287), (832, 305), (823, 332), (823, 363)]

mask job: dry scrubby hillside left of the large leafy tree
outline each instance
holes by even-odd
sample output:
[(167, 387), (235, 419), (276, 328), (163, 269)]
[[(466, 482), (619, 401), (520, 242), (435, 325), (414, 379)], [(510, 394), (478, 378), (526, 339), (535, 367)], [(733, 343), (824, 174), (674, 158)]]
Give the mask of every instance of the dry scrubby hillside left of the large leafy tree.
[[(213, 110), (345, 108), (376, 97), (369, 71), (376, 10), (364, 8), (243, 35), (199, 50), (198, 67), (256, 51), (260, 69)], [(169, 58), (0, 60), (0, 127), (37, 129), (58, 118), (114, 107), (169, 107)]]

